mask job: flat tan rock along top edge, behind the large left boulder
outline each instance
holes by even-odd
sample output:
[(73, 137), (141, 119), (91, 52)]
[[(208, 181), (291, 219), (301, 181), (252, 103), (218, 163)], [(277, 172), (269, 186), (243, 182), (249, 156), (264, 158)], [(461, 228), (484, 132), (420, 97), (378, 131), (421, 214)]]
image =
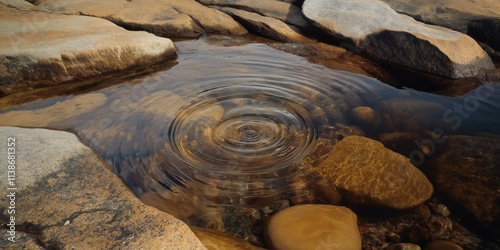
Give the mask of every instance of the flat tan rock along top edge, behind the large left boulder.
[(195, 0), (39, 0), (37, 6), (57, 13), (101, 17), (127, 29), (145, 30), (170, 38), (195, 38), (205, 32), (246, 33), (228, 15)]

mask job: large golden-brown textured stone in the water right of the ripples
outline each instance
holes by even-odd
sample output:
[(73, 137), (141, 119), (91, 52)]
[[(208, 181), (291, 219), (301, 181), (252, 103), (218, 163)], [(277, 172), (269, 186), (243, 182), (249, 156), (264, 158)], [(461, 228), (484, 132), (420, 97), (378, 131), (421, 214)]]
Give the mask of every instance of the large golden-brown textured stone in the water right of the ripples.
[(406, 209), (433, 193), (432, 184), (408, 158), (361, 136), (335, 144), (318, 171), (335, 183), (343, 199), (357, 205)]

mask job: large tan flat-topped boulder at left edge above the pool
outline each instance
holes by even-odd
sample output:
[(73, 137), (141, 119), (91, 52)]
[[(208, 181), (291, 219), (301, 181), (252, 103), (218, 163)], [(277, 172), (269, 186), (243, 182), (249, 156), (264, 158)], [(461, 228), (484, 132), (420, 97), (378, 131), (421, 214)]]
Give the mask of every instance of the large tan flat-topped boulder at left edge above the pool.
[(107, 20), (26, 8), (0, 3), (4, 93), (150, 65), (176, 52), (167, 38), (127, 31)]

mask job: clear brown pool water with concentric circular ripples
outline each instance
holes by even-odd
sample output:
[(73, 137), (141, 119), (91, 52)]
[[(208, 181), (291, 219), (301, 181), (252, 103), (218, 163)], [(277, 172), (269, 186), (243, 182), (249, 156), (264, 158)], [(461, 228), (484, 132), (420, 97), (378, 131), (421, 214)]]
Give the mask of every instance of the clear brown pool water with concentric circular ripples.
[[(0, 124), (71, 129), (146, 202), (226, 229), (230, 211), (252, 217), (259, 211), (252, 209), (314, 200), (309, 170), (345, 135), (436, 127), (499, 133), (495, 85), (480, 90), (492, 97), (477, 97), (474, 112), (454, 128), (443, 114), (451, 109), (448, 118), (457, 122), (454, 105), (476, 105), (470, 95), (396, 89), (264, 44), (221, 41), (179, 42), (178, 65), (169, 70), (4, 110)], [(377, 122), (353, 119), (356, 107), (377, 112)]]

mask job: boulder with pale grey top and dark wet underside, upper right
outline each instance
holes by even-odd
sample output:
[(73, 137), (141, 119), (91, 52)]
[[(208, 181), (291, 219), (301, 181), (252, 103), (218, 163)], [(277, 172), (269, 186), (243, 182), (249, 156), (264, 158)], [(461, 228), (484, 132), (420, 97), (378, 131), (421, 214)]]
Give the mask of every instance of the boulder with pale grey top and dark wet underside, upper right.
[(415, 21), (382, 1), (306, 0), (302, 12), (333, 38), (382, 61), (448, 78), (494, 68), (469, 36)]

